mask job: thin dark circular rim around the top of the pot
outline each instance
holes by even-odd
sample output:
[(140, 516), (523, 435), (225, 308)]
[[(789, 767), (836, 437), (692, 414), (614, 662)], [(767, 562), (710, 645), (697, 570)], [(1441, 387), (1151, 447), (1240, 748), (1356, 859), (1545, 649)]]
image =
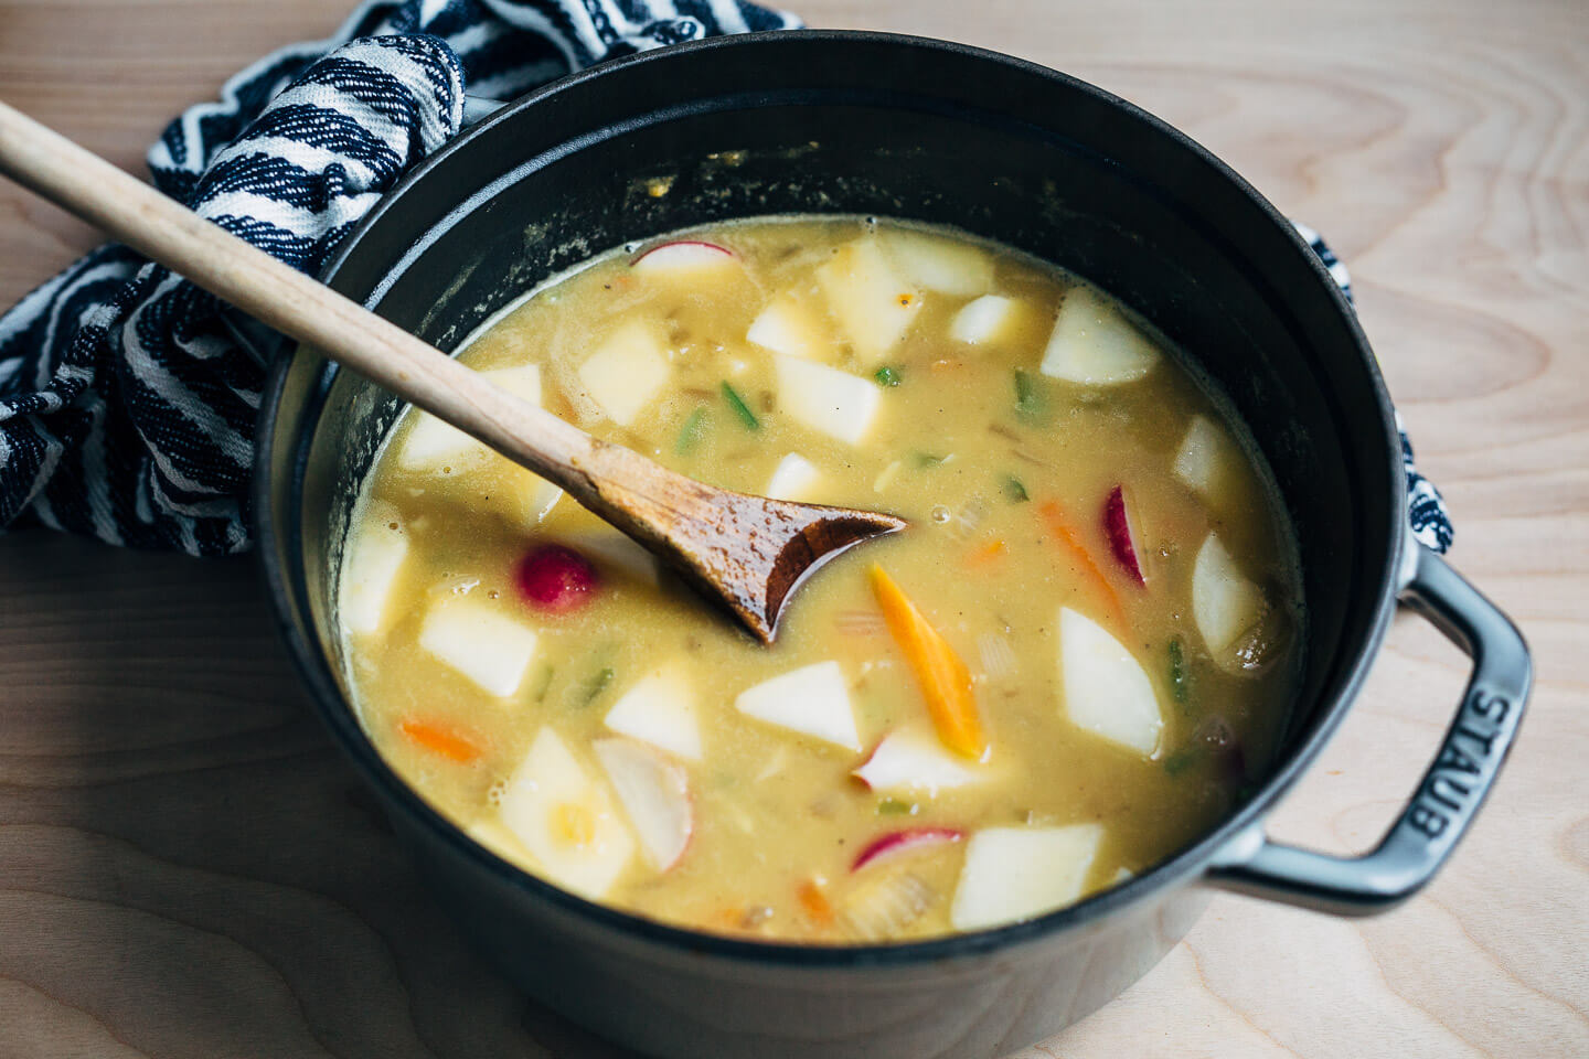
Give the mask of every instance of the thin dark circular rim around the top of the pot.
[[(354, 230), (348, 233), (337, 251), (331, 256), (326, 267), (321, 270), (319, 279), (327, 286), (335, 286), (335, 278), (342, 265), (353, 254), (359, 241), (370, 232), (370, 229), (381, 222), (381, 218), (397, 198), (423, 181), (434, 168), (450, 159), (454, 152), (477, 149), (475, 144), (478, 141), (489, 141), (493, 129), (504, 121), (515, 117), (521, 111), (563, 92), (577, 90), (588, 81), (609, 76), (615, 70), (624, 70), (640, 64), (674, 62), (682, 56), (710, 52), (725, 48), (761, 48), (767, 43), (890, 44), (992, 62), (1012, 67), (1044, 79), (1060, 81), (1071, 90), (1090, 95), (1096, 102), (1125, 111), (1130, 117), (1144, 122), (1160, 135), (1173, 140), (1182, 149), (1190, 151), (1201, 164), (1214, 168), (1217, 175), (1238, 189), (1270, 224), (1279, 227), (1290, 240), (1295, 252), (1303, 256), (1305, 262), (1311, 267), (1314, 283), (1322, 289), (1324, 295), (1333, 302), (1336, 313), (1344, 319), (1352, 345), (1355, 346), (1357, 354), (1370, 375), (1373, 397), (1379, 410), (1381, 441), (1384, 443), (1386, 460), (1390, 472), (1387, 479), (1392, 483), (1390, 487), (1394, 494), (1390, 497), (1390, 505), (1387, 505), (1390, 519), (1390, 532), (1387, 533), (1389, 546), (1386, 548), (1386, 554), (1381, 560), (1379, 587), (1376, 591), (1371, 626), (1357, 645), (1355, 657), (1346, 672), (1338, 678), (1336, 686), (1320, 700), (1317, 707), (1320, 719), (1314, 730), (1276, 765), (1271, 775), (1262, 781), (1258, 791), (1244, 805), (1231, 811), (1230, 816), (1220, 821), (1197, 841), (1187, 845), (1142, 875), (1138, 875), (1120, 886), (1112, 886), (1101, 894), (1081, 900), (1074, 905), (1058, 908), (1044, 916), (1038, 916), (1036, 919), (1012, 922), (1001, 927), (891, 945), (837, 946), (793, 942), (761, 942), (690, 930), (577, 897), (575, 894), (570, 894), (491, 853), (486, 846), (470, 838), (458, 824), (451, 822), (431, 807), (412, 786), (408, 786), (385, 762), (373, 743), (364, 734), (364, 729), (358, 724), (351, 703), (348, 703), (343, 697), (337, 680), (331, 672), (329, 660), (319, 653), (318, 645), (310, 638), (299, 635), (297, 622), (294, 621), (294, 594), (289, 584), (289, 578), (292, 575), (289, 570), (283, 570), (276, 560), (276, 554), (283, 541), (276, 538), (270, 519), (270, 452), (272, 443), (276, 437), (276, 416), (280, 413), (286, 379), (291, 365), (297, 359), (297, 349), (291, 348), (291, 351), (284, 349), (273, 359), (261, 400), (261, 414), (254, 432), (256, 449), (251, 499), (257, 549), (270, 592), (272, 613), (276, 627), (286, 641), (288, 653), (299, 670), (299, 676), (308, 686), (315, 707), (321, 719), (326, 722), (326, 727), (332, 732), (332, 737), (342, 751), (353, 759), (364, 780), (378, 788), (389, 799), (391, 805), (400, 807), (412, 821), (423, 826), (434, 837), (451, 846), (456, 854), (469, 859), (477, 868), (489, 872), (499, 883), (513, 886), (534, 899), (548, 902), (563, 913), (582, 921), (583, 927), (621, 932), (671, 949), (675, 954), (704, 954), (739, 962), (810, 969), (942, 964), (1006, 948), (1017, 948), (1050, 935), (1076, 930), (1088, 922), (1108, 918), (1128, 905), (1142, 902), (1171, 886), (1197, 881), (1197, 878), (1206, 873), (1209, 864), (1222, 849), (1225, 849), (1231, 841), (1244, 837), (1268, 816), (1274, 803), (1301, 778), (1303, 772), (1311, 767), (1314, 759), (1335, 735), (1335, 730), (1340, 727), (1346, 713), (1351, 710), (1351, 705), (1362, 689), (1368, 670), (1373, 665), (1390, 626), (1397, 595), (1401, 587), (1398, 568), (1401, 565), (1401, 553), (1406, 548), (1408, 527), (1403, 514), (1406, 508), (1406, 483), (1400, 462), (1400, 435), (1395, 427), (1395, 416), (1389, 392), (1386, 391), (1373, 349), (1363, 335), (1355, 311), (1341, 294), (1341, 289), (1330, 278), (1324, 262), (1320, 262), (1317, 254), (1314, 254), (1313, 249), (1301, 240), (1290, 221), (1281, 214), (1274, 205), (1268, 202), (1268, 198), (1258, 194), (1257, 189), (1231, 170), (1230, 165), (1192, 140), (1189, 135), (1146, 110), (1087, 81), (1036, 62), (971, 44), (874, 30), (769, 30), (760, 33), (713, 37), (612, 59), (585, 70), (569, 73), (504, 105), (497, 113), (459, 133), (454, 140), (405, 175), (370, 210), (370, 213), (365, 214)], [(462, 206), (464, 203), (461, 202), (459, 205)], [(456, 211), (448, 214), (448, 221), (453, 216), (458, 216)], [(447, 221), (443, 221), (443, 224), (445, 222)], [(378, 291), (380, 286), (377, 287), (377, 292)], [(332, 370), (335, 368), (335, 365), (327, 367)], [(324, 387), (321, 389), (321, 394), (324, 394)], [(305, 440), (307, 435), (300, 435), (297, 438), (296, 448), (299, 452), (302, 452)], [(297, 460), (294, 460), (294, 467), (296, 465)], [(297, 526), (300, 524), (300, 518), (297, 518), (299, 495), (296, 492), (289, 495), (292, 505), (289, 514), (292, 518), (288, 519), (288, 526), (291, 529), (288, 532), (289, 540), (286, 543), (300, 545), (302, 541), (299, 540), (297, 532)]]

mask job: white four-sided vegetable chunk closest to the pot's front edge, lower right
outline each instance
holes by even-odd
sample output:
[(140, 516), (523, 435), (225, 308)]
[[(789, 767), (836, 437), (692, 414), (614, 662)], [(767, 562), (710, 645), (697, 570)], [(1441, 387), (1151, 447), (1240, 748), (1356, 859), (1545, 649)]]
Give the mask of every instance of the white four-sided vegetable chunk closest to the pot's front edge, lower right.
[(1101, 841), (1101, 824), (979, 830), (966, 843), (950, 922), (980, 930), (1073, 903)]

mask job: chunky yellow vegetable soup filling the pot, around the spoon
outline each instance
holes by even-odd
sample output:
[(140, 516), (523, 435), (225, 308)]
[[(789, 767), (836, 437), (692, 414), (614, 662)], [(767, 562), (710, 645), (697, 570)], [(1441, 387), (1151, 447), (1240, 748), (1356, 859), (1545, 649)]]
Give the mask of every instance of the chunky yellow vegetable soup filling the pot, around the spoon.
[(1244, 797), (1300, 653), (1239, 424), (1076, 276), (860, 218), (599, 256), (461, 359), (704, 481), (910, 529), (764, 648), (548, 483), (423, 413), (340, 572), (346, 680), (426, 800), (574, 894), (853, 945), (1152, 867)]

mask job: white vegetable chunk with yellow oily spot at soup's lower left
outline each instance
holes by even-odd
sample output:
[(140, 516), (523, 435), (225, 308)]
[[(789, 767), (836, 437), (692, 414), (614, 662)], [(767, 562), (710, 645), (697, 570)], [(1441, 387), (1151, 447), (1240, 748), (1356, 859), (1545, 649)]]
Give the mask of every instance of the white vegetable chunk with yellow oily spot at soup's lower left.
[(607, 792), (567, 745), (540, 729), (502, 789), (502, 824), (558, 886), (599, 899), (634, 856), (634, 838)]

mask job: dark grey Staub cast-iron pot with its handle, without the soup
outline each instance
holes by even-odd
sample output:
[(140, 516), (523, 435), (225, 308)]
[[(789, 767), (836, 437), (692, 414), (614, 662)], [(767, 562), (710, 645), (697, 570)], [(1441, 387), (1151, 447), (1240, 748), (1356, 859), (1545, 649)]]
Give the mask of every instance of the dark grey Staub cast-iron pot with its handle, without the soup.
[[(655, 178), (672, 178), (669, 194), (650, 194)], [(1185, 934), (1208, 888), (1363, 915), (1429, 881), (1517, 730), (1527, 648), (1409, 537), (1390, 403), (1325, 270), (1268, 202), (1138, 108), (930, 40), (791, 32), (669, 48), (502, 108), (377, 206), (324, 279), (451, 351), (591, 252), (794, 211), (944, 222), (1057, 262), (1144, 313), (1225, 387), (1301, 549), (1306, 662), (1284, 751), (1195, 845), (1125, 886), (1003, 929), (794, 946), (588, 903), (472, 843), (359, 729), (331, 586), (358, 483), (400, 408), (311, 352), (281, 356), (256, 495), (275, 607), (332, 735), (474, 942), (534, 997), (645, 1053), (985, 1057), (1125, 989)], [(1398, 600), (1473, 657), (1433, 765), (1365, 856), (1266, 840), (1265, 816), (1346, 716)]]

